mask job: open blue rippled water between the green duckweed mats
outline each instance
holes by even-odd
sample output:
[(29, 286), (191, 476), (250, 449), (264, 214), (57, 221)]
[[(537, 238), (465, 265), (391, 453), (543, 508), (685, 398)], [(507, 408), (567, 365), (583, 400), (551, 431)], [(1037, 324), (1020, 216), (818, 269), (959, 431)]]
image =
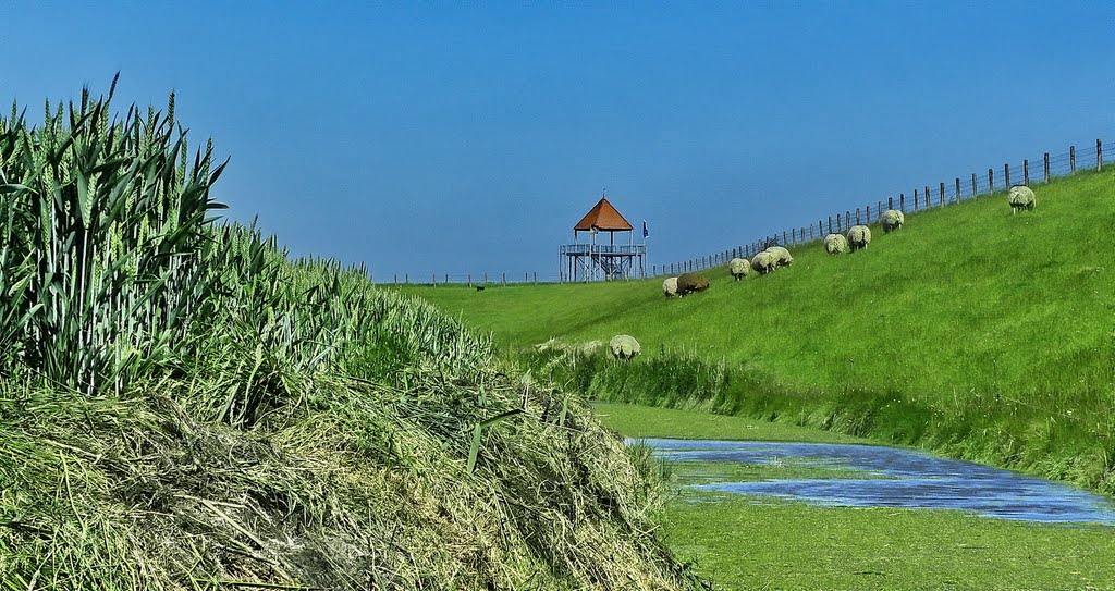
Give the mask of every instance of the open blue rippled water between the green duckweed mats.
[[(672, 462), (832, 468), (838, 478), (712, 482), (698, 490), (815, 505), (947, 508), (987, 517), (1115, 526), (1115, 501), (1066, 484), (914, 449), (869, 445), (640, 439)], [(823, 472), (822, 472), (823, 474)]]

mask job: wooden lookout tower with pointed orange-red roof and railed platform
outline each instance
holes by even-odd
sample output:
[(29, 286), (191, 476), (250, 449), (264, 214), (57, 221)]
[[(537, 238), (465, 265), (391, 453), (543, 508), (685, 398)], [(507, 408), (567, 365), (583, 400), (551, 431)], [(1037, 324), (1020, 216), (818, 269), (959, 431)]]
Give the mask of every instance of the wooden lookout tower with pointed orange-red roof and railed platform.
[[(588, 232), (588, 242), (581, 242)], [(607, 242), (601, 234), (608, 233)], [(628, 243), (615, 243), (615, 233), (627, 232)], [(647, 240), (634, 243), (634, 229), (615, 207), (601, 196), (589, 213), (573, 226), (573, 244), (561, 246), (559, 260), (562, 281), (601, 281), (647, 277)]]

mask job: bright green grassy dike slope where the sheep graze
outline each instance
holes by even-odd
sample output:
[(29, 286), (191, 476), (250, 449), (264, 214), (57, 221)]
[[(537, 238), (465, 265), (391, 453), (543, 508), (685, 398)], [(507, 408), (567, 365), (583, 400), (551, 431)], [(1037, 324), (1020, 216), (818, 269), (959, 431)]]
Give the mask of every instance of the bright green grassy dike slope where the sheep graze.
[[(659, 281), (404, 288), (558, 379), (618, 401), (697, 406), (933, 447), (1115, 491), (1115, 175), (1035, 185), (875, 227), (863, 252), (662, 298)], [(634, 364), (534, 353), (636, 336)], [(556, 361), (556, 362), (555, 362)]]

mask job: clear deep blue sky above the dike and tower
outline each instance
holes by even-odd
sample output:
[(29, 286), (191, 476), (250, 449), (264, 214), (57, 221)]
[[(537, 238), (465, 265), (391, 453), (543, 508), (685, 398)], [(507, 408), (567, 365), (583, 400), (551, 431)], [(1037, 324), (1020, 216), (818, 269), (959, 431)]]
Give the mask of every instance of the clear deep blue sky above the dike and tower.
[[(652, 262), (1115, 142), (1115, 3), (0, 3), (0, 100), (164, 105), (230, 215), (377, 278)], [(1113, 146), (1115, 148), (1115, 146)]]

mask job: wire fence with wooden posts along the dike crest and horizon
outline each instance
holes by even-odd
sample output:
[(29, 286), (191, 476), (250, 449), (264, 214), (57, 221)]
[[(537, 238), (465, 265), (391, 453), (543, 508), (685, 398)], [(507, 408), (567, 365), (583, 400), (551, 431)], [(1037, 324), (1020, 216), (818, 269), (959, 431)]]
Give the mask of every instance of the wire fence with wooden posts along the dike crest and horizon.
[[(1111, 149), (1108, 149), (1108, 147)], [(933, 207), (954, 205), (961, 201), (971, 201), (980, 196), (989, 196), (1004, 192), (1015, 185), (1037, 185), (1053, 182), (1059, 177), (1072, 176), (1084, 171), (1101, 171), (1104, 166), (1115, 165), (1115, 146), (1108, 146), (1101, 139), (1095, 145), (1083, 148), (1069, 146), (1060, 154), (1038, 154), (1034, 158), (1004, 163), (1000, 167), (979, 168), (950, 181), (938, 181), (933, 184), (914, 186), (911, 192), (900, 192), (831, 215), (818, 217), (816, 223), (796, 227), (787, 227), (772, 232), (765, 236), (738, 244), (723, 251), (669, 264), (652, 264), (646, 270), (647, 277), (670, 277), (679, 273), (701, 271), (727, 264), (736, 256), (750, 259), (759, 251), (772, 245), (796, 248), (823, 240), (826, 234), (847, 232), (853, 225), (878, 225), (879, 217), (886, 210), (899, 210), (903, 213), (915, 213)], [(424, 284), (448, 285), (466, 284), (483, 289), (485, 285), (507, 285), (514, 283), (558, 283), (568, 281), (560, 272), (481, 272), (481, 273), (401, 273), (390, 278), (375, 277), (380, 284)], [(386, 281), (390, 279), (390, 281)]]

